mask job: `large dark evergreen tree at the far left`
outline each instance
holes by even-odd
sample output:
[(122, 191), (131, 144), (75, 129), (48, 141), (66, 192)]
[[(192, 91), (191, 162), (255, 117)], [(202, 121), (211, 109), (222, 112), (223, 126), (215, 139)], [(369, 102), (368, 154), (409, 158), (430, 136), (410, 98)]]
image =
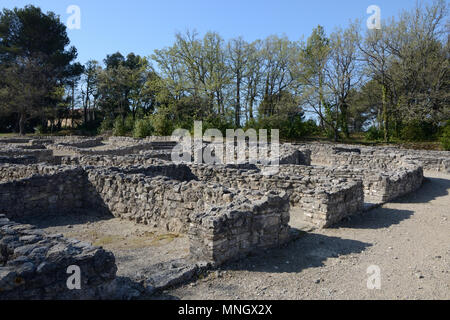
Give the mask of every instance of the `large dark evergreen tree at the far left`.
[[(0, 85), (3, 96), (13, 99), (4, 102), (3, 109), (20, 114), (20, 134), (44, 104), (55, 103), (55, 88), (73, 76), (77, 51), (66, 50), (69, 43), (66, 26), (53, 12), (44, 14), (30, 5), (0, 13), (0, 63), (5, 75)], [(21, 101), (25, 103), (20, 108), (11, 108)]]

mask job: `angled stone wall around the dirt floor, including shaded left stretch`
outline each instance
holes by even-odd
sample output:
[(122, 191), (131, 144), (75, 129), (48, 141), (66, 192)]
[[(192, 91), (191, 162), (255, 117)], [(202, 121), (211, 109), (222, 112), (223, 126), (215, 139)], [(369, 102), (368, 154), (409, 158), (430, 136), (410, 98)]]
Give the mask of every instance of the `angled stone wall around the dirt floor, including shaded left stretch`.
[[(122, 169), (16, 165), (0, 172), (10, 180), (0, 184), (0, 212), (18, 221), (30, 215), (96, 210), (160, 230), (189, 233), (192, 257), (197, 260), (206, 259), (206, 249), (195, 249), (205, 239), (195, 239), (193, 235), (212, 232), (214, 239), (220, 237), (222, 242), (220, 245), (215, 242), (208, 249), (213, 259), (208, 261), (218, 264), (256, 248), (276, 246), (287, 237), (287, 196), (281, 200), (272, 192), (267, 198), (264, 193), (251, 189), (229, 189), (196, 181), (186, 165)], [(250, 207), (244, 210), (244, 203)], [(224, 218), (226, 221), (216, 222), (208, 230), (202, 229), (204, 225), (195, 226), (217, 212), (221, 213), (217, 221)], [(250, 220), (241, 225), (247, 218)], [(232, 226), (236, 229), (230, 230)], [(225, 237), (233, 235), (236, 237), (230, 238), (227, 244), (223, 242)], [(236, 241), (240, 243), (238, 247)]]

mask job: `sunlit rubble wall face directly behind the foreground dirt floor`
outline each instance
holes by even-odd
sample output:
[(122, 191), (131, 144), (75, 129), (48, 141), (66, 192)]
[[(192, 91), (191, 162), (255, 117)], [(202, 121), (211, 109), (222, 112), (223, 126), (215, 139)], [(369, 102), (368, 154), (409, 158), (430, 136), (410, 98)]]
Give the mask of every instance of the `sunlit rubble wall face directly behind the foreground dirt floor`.
[(94, 207), (103, 206), (116, 217), (172, 232), (186, 232), (198, 210), (232, 199), (223, 187), (169, 177), (89, 170), (88, 179), (92, 188), (88, 194), (95, 195), (89, 201)]

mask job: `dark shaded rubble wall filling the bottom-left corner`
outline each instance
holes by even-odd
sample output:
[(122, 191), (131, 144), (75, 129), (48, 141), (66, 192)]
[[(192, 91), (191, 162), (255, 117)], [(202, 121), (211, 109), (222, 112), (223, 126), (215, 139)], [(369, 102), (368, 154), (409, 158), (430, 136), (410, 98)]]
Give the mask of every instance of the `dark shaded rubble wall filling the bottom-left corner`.
[[(67, 287), (67, 270), (73, 265), (80, 268), (80, 290)], [(0, 300), (109, 298), (116, 271), (111, 252), (46, 236), (0, 215)]]

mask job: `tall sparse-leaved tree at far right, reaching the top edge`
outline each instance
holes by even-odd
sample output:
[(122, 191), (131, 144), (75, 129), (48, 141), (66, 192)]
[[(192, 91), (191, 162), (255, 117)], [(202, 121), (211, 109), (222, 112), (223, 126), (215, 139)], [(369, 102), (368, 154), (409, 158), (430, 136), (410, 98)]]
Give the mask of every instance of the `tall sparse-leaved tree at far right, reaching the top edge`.
[(404, 120), (439, 123), (450, 117), (448, 6), (435, 1), (404, 11), (389, 26), (387, 47), (393, 56), (394, 101)]

